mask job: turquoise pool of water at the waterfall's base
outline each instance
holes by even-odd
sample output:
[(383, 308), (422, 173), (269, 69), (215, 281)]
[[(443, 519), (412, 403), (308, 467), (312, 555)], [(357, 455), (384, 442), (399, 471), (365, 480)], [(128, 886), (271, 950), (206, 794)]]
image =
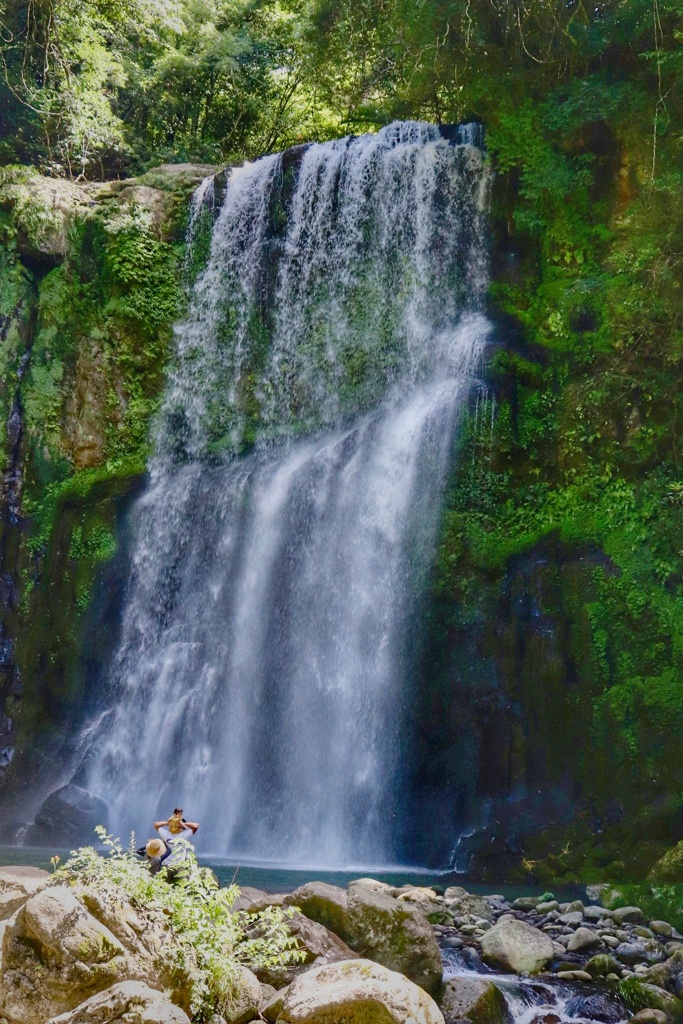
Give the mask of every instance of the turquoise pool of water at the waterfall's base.
[[(69, 859), (69, 850), (51, 850), (39, 847), (0, 847), (0, 866), (6, 864), (32, 864), (34, 867), (50, 869), (50, 858), (58, 856), (63, 862)], [(220, 882), (221, 886), (230, 885), (234, 882), (238, 886), (252, 886), (254, 889), (263, 889), (270, 893), (292, 892), (305, 882), (328, 882), (330, 885), (346, 887), (349, 882), (360, 877), (372, 878), (380, 882), (386, 882), (391, 886), (463, 886), (471, 893), (479, 895), (490, 895), (501, 893), (508, 899), (517, 896), (538, 896), (543, 891), (551, 889), (559, 899), (575, 899), (585, 896), (586, 890), (582, 886), (559, 886), (553, 889), (552, 886), (544, 890), (541, 886), (508, 885), (497, 882), (471, 882), (465, 874), (455, 872), (441, 873), (420, 870), (416, 868), (395, 868), (390, 871), (322, 871), (313, 867), (301, 870), (291, 870), (289, 868), (259, 866), (259, 865), (236, 865), (217, 861), (215, 858), (204, 858), (200, 854), (200, 862), (207, 867), (211, 867)]]

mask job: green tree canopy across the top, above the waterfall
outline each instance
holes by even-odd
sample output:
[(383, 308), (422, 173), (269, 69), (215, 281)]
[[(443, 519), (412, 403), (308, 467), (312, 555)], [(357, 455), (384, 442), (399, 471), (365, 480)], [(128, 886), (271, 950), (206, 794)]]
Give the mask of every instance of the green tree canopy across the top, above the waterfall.
[(0, 161), (86, 177), (394, 118), (680, 114), (680, 0), (4, 0)]

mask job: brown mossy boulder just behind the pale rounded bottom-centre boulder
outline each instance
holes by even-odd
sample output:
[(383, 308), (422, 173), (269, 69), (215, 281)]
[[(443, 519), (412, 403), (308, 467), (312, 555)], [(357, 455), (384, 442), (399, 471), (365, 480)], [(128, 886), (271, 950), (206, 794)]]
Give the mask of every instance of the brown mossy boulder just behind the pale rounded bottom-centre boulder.
[(352, 949), (404, 974), (427, 992), (437, 989), (441, 953), (431, 925), (416, 906), (353, 884), (347, 906), (345, 941)]

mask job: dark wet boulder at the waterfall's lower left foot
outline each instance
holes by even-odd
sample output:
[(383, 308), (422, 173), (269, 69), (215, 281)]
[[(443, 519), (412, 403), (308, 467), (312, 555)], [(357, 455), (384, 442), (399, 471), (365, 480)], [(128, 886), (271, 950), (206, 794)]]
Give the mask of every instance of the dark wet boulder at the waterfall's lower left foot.
[(29, 846), (72, 846), (95, 842), (95, 825), (106, 826), (109, 809), (103, 800), (80, 785), (55, 790), (38, 811), (27, 833)]

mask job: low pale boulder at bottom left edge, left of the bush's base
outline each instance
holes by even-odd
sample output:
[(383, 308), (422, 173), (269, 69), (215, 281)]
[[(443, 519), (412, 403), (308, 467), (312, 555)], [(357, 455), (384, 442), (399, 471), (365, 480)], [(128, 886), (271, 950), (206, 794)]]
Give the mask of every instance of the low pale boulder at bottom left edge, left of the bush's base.
[(122, 981), (48, 1024), (189, 1024), (179, 1007), (142, 981)]

